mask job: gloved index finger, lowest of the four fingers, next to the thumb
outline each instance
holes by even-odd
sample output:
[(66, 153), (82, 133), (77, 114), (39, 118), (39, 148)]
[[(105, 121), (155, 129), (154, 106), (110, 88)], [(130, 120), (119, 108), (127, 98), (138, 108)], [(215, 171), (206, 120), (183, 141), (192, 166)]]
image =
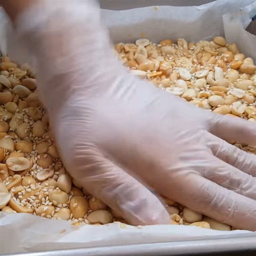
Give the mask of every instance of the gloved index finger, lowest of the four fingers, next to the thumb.
[(186, 176), (182, 173), (176, 177), (181, 182), (171, 183), (166, 177), (165, 180), (169, 181), (169, 184), (165, 182), (166, 186), (162, 186), (158, 192), (222, 223), (241, 229), (256, 230), (255, 200), (223, 188), (199, 176), (193, 170), (184, 172)]

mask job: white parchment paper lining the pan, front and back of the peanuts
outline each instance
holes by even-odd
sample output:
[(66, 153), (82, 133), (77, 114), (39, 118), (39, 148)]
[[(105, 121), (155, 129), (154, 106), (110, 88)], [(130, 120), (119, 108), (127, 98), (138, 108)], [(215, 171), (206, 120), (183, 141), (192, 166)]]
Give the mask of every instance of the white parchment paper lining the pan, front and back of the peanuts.
[[(133, 42), (141, 37), (154, 42), (181, 37), (196, 42), (225, 35), (228, 43), (236, 43), (240, 52), (255, 61), (256, 36), (244, 30), (255, 14), (256, 1), (220, 0), (201, 6), (102, 10), (102, 19), (114, 42)], [(3, 54), (11, 51), (6, 41), (7, 26), (6, 17), (0, 13), (0, 49)], [(255, 232), (245, 230), (217, 231), (178, 225), (133, 227), (111, 223), (74, 226), (65, 220), (0, 212), (1, 254), (255, 235)]]

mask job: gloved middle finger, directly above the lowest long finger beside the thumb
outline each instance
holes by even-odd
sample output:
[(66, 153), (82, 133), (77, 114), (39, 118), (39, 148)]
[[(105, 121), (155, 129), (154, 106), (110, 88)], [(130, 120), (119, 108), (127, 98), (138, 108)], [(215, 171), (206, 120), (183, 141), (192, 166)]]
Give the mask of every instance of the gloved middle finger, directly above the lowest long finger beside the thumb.
[(208, 166), (202, 173), (205, 178), (238, 194), (256, 199), (255, 177), (240, 171), (217, 157), (212, 157)]

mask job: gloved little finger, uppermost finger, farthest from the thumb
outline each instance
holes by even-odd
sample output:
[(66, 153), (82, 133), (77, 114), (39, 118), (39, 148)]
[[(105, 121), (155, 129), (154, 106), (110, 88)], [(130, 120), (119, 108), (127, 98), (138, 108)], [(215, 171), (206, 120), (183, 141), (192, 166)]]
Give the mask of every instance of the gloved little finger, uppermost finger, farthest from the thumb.
[(237, 141), (255, 146), (256, 123), (248, 122), (242, 118), (225, 115), (210, 115), (209, 131), (228, 142)]

